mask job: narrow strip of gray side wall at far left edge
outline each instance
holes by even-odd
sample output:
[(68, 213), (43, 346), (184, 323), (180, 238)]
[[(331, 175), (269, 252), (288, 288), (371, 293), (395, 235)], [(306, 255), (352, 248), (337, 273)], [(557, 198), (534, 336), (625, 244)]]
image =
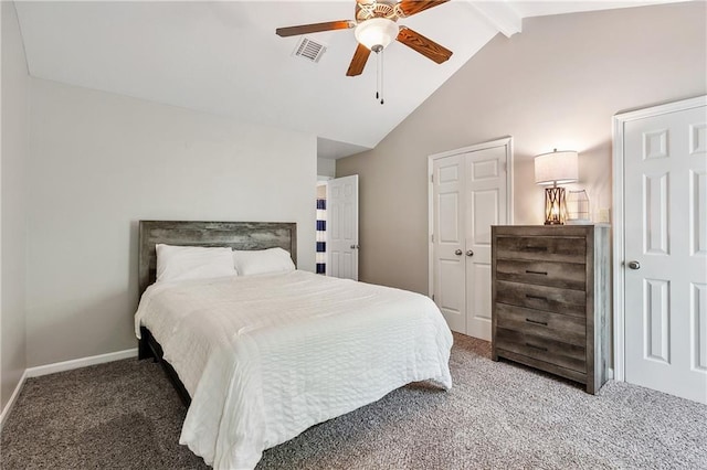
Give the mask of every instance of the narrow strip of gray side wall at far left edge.
[(25, 334), (25, 162), (29, 153), (29, 75), (14, 3), (3, 1), (2, 149), (0, 246), (0, 409), (4, 409), (24, 368)]

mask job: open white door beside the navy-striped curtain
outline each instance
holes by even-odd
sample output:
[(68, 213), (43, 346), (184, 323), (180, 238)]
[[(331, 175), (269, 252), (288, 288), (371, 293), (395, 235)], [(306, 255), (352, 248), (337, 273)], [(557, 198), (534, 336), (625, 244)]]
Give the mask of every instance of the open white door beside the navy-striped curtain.
[(358, 280), (358, 174), (327, 182), (327, 276)]

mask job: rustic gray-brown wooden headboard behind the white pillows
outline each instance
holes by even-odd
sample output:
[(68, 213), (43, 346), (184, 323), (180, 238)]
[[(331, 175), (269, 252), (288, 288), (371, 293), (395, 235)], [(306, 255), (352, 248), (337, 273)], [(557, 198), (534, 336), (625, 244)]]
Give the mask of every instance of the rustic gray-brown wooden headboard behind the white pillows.
[(140, 295), (155, 282), (155, 245), (228, 246), (233, 249), (281, 247), (297, 266), (297, 224), (293, 222), (140, 221), (138, 280)]

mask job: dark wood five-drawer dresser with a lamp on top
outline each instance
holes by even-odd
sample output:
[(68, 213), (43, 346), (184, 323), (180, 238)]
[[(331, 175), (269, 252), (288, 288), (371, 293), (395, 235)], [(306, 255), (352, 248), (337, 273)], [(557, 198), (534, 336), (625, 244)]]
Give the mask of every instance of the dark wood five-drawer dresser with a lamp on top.
[(492, 357), (587, 385), (606, 382), (609, 226), (492, 227)]

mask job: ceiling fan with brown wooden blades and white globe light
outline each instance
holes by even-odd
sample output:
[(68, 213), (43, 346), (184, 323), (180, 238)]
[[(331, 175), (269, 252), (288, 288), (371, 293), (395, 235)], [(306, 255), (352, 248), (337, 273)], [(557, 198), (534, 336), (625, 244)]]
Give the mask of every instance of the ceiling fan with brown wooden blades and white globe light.
[(371, 51), (379, 53), (392, 40), (398, 40), (425, 57), (441, 64), (452, 56), (452, 51), (423, 36), (416, 31), (397, 21), (412, 17), (432, 7), (446, 3), (449, 0), (356, 0), (356, 20), (328, 21), (326, 23), (300, 24), (298, 26), (278, 28), (275, 33), (281, 38), (323, 31), (349, 30), (358, 46), (346, 72), (347, 76), (360, 75)]

